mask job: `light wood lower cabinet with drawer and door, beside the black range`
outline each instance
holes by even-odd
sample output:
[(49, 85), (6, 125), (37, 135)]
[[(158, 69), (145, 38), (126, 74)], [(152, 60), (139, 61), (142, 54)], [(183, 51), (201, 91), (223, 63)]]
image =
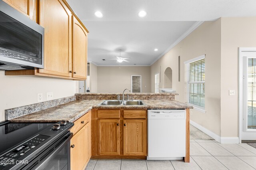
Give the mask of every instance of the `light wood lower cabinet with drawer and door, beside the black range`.
[[(70, 130), (73, 137), (70, 140), (71, 170), (84, 170), (91, 157), (91, 122), (90, 112), (74, 122)], [(79, 129), (80, 127), (80, 129)]]

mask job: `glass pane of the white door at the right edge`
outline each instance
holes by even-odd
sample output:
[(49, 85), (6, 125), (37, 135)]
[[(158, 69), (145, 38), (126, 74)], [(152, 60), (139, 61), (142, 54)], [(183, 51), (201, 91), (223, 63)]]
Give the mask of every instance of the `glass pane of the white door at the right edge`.
[(256, 129), (256, 58), (247, 57), (247, 129)]

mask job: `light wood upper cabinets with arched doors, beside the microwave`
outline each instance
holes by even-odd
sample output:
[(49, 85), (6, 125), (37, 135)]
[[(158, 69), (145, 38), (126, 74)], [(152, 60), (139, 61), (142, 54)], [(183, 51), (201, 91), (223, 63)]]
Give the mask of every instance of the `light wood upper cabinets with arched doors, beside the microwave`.
[[(23, 1), (25, 0), (17, 0)], [(5, 75), (85, 80), (88, 30), (66, 0), (35, 1), (38, 6), (38, 24), (44, 27), (44, 69), (12, 70), (6, 71)]]

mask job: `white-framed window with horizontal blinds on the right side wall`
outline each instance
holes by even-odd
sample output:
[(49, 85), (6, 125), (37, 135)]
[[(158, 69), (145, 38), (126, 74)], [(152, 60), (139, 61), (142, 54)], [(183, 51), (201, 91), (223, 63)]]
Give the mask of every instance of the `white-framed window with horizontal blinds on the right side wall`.
[(184, 62), (186, 103), (204, 111), (205, 55)]

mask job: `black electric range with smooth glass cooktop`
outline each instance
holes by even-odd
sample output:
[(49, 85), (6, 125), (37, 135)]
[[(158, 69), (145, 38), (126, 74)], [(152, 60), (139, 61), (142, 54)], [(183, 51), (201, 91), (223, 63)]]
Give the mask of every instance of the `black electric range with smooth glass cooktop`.
[(0, 123), (0, 170), (70, 169), (72, 126), (68, 121)]

